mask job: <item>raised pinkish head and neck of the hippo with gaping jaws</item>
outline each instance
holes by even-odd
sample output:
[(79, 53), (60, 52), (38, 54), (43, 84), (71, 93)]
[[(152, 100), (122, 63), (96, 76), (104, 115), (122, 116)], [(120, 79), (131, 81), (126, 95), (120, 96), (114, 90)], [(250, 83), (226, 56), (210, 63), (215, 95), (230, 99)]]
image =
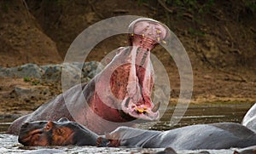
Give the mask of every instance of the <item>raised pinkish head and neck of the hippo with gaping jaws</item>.
[[(131, 22), (128, 31), (130, 47), (119, 48), (108, 65), (84, 88), (84, 97), (91, 109), (90, 112), (84, 111), (85, 120), (78, 111), (81, 107), (72, 110), (79, 123), (94, 119), (97, 123), (85, 124), (97, 134), (113, 130), (119, 123), (130, 125), (158, 120), (160, 117), (160, 103), (151, 100), (154, 68), (150, 51), (157, 44), (165, 43), (170, 30), (156, 20), (140, 18)], [(73, 106), (73, 101), (69, 102)], [(114, 123), (110, 126), (108, 122)]]

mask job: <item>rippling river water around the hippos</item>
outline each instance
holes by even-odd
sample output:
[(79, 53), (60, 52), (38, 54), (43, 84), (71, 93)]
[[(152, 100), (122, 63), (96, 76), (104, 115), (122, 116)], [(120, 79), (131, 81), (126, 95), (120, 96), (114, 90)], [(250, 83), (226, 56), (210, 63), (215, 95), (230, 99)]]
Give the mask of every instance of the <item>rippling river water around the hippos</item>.
[[(143, 123), (140, 128), (167, 130), (170, 128), (179, 128), (197, 123), (220, 123), (234, 122), (241, 123), (242, 117), (252, 104), (233, 104), (233, 105), (207, 105), (207, 106), (189, 106), (183, 119), (177, 125), (173, 126), (170, 123), (173, 107), (166, 111), (160, 122)], [(0, 153), (153, 153), (162, 151), (158, 149), (142, 149), (142, 148), (106, 148), (94, 146), (51, 146), (51, 147), (26, 147), (20, 145), (17, 141), (17, 136), (4, 134), (9, 124), (14, 121), (15, 117), (2, 116), (0, 117)], [(226, 154), (233, 153), (234, 149), (209, 151), (211, 154)], [(198, 153), (200, 151), (177, 151), (178, 153)]]

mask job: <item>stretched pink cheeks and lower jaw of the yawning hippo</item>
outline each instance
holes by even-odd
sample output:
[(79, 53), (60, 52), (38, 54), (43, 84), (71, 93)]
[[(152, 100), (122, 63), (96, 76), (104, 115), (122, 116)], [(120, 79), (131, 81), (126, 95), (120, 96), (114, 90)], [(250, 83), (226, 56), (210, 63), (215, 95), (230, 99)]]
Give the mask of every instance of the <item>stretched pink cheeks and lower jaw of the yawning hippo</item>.
[[(150, 66), (149, 51), (137, 47), (131, 49), (131, 65), (122, 111), (131, 117), (156, 120), (159, 111), (152, 111), (154, 104), (150, 98), (154, 86), (154, 71)], [(138, 63), (141, 62), (141, 63)]]

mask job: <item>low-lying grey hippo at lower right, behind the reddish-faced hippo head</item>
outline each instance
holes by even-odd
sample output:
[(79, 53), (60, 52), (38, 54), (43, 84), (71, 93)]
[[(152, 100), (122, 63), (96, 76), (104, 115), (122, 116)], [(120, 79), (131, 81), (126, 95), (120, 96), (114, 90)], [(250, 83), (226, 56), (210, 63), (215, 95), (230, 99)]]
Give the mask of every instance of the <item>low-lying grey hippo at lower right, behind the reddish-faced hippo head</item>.
[(197, 124), (164, 132), (120, 127), (112, 134), (119, 134), (121, 146), (144, 148), (172, 147), (175, 150), (198, 150), (256, 145), (256, 134), (239, 123)]

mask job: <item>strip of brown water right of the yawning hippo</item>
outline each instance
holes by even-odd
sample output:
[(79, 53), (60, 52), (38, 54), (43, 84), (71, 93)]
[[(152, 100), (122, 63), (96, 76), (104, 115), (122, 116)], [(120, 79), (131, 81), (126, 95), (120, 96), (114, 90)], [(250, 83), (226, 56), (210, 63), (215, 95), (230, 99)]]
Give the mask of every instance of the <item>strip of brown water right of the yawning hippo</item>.
[[(253, 104), (232, 104), (232, 105), (211, 105), (200, 106), (190, 105), (186, 111), (183, 119), (177, 125), (172, 125), (170, 119), (175, 109), (174, 107), (168, 108), (160, 121), (154, 124), (150, 129), (154, 130), (169, 130), (172, 128), (180, 128), (183, 126), (202, 124), (202, 123), (222, 123), (232, 122), (241, 123), (242, 118)], [(140, 124), (140, 128), (148, 128), (148, 123)]]

